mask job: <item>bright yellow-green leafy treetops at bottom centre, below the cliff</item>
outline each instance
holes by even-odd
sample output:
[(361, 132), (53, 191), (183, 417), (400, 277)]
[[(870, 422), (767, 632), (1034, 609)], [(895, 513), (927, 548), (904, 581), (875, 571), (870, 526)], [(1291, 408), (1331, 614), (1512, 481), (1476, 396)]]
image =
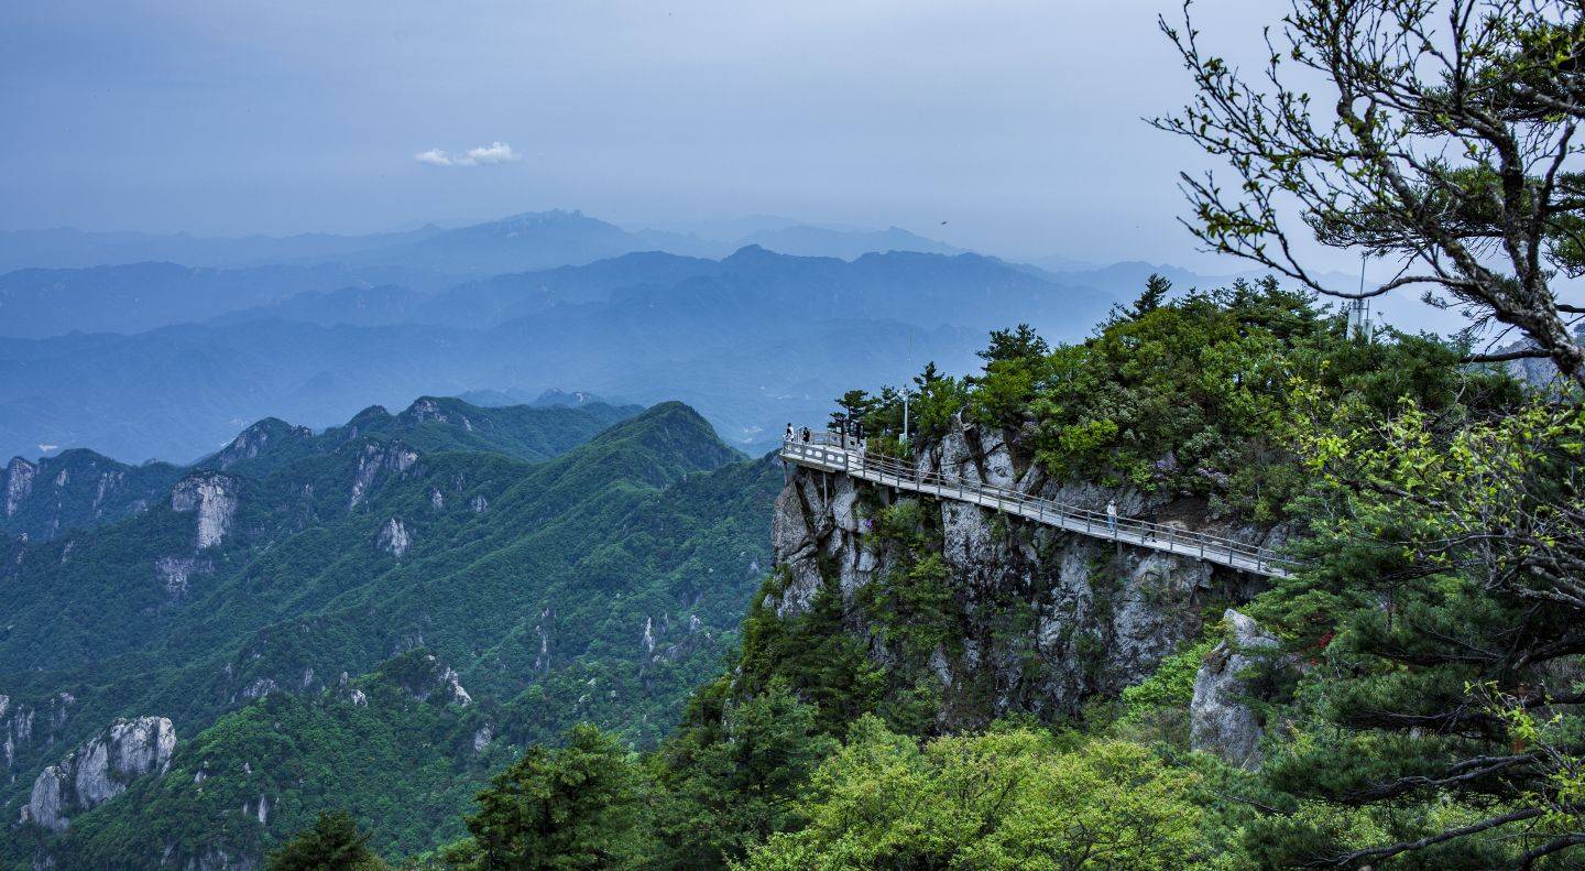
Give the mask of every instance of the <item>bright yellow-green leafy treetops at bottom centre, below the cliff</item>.
[(921, 747), (864, 717), (815, 773), (808, 825), (747, 868), (1211, 868), (1194, 782), (1130, 744), (1008, 728)]

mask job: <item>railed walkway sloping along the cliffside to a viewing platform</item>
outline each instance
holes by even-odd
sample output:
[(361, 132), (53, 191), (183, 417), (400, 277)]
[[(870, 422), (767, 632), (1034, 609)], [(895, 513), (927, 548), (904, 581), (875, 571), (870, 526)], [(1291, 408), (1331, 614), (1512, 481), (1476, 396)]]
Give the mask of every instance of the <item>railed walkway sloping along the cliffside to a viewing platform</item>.
[(810, 433), (807, 443), (800, 438), (783, 441), (781, 459), (812, 470), (845, 473), (884, 487), (994, 508), (1048, 527), (1106, 541), (1121, 541), (1135, 547), (1195, 557), (1266, 577), (1284, 577), (1292, 568), (1290, 560), (1284, 560), (1268, 547), (1132, 517), (1117, 517), (1116, 525), (1113, 525), (1108, 524), (1103, 511), (1062, 505), (991, 484), (943, 478), (937, 473), (921, 471), (915, 463), (891, 457), (872, 457), (857, 451), (856, 441), (850, 439), (843, 444), (842, 436), (835, 433)]

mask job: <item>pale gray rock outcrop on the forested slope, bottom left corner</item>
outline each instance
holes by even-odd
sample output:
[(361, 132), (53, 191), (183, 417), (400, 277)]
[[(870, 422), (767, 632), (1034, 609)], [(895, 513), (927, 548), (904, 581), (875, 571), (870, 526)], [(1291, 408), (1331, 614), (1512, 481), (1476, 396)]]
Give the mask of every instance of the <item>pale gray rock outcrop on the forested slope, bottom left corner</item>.
[(33, 781), (22, 822), (63, 831), (71, 814), (127, 792), (133, 777), (165, 774), (176, 750), (176, 730), (165, 717), (116, 720)]

